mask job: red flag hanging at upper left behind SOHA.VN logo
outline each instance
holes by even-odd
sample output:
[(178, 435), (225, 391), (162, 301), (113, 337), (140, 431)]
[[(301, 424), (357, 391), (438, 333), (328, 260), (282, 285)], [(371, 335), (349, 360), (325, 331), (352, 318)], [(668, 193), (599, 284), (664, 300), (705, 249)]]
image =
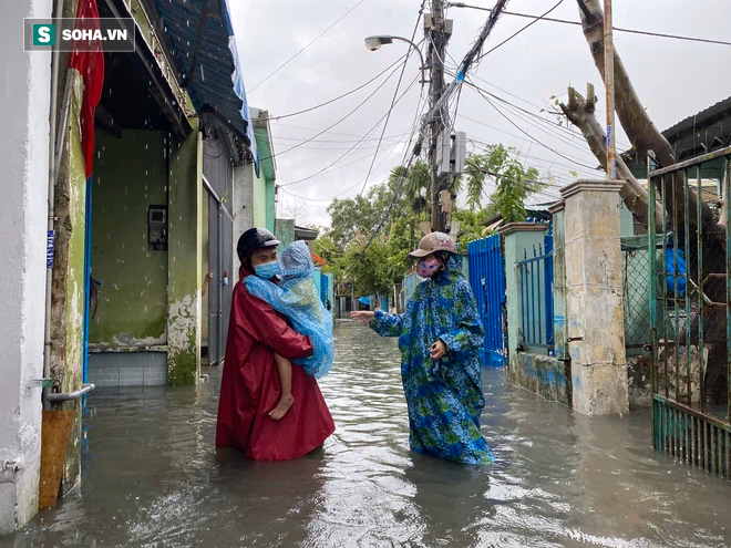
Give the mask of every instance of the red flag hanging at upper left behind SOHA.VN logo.
[[(79, 1), (76, 29), (100, 30), (96, 0)], [(81, 44), (84, 49), (93, 49), (93, 51), (74, 50), (69, 60), (69, 68), (76, 69), (84, 81), (84, 96), (81, 103), (81, 148), (86, 158), (86, 177), (89, 178), (94, 163), (94, 113), (102, 99), (102, 86), (104, 85), (104, 52), (100, 41), (86, 41)], [(91, 48), (89, 48), (90, 45)]]

